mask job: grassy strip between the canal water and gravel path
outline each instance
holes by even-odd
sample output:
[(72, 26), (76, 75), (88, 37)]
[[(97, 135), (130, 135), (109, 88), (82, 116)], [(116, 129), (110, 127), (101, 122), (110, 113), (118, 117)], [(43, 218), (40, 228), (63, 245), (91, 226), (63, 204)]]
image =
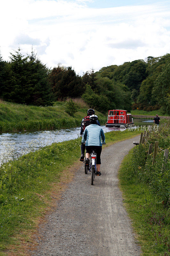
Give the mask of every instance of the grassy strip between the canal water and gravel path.
[[(127, 130), (108, 132), (106, 143), (137, 134), (139, 132)], [(66, 167), (78, 161), (80, 140), (54, 143), (0, 167), (0, 255), (6, 255), (4, 251), (9, 244), (22, 245), (18, 234), (24, 239), (25, 231), (34, 230), (35, 219), (43, 215), (52, 200), (49, 191), (53, 184), (60, 182)]]

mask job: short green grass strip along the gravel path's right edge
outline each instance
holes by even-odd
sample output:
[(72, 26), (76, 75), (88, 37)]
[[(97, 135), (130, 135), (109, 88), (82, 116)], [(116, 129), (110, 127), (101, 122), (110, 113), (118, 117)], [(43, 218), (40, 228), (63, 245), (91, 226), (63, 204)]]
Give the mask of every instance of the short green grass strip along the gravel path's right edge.
[(169, 210), (160, 202), (149, 185), (136, 182), (129, 174), (133, 149), (119, 171), (120, 186), (143, 256), (168, 256), (170, 253)]

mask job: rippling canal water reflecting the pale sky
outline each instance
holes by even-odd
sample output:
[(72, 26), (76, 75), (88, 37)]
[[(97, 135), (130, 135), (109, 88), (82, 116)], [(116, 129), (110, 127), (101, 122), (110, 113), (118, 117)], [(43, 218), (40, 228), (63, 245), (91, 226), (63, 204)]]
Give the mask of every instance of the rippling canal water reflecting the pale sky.
[[(141, 130), (141, 126), (147, 127), (154, 123), (153, 120), (134, 119), (134, 124), (136, 129)], [(118, 127), (101, 127), (104, 132), (120, 131)], [(80, 127), (55, 131), (2, 133), (0, 135), (0, 164), (54, 142), (72, 140), (78, 136), (80, 136)]]

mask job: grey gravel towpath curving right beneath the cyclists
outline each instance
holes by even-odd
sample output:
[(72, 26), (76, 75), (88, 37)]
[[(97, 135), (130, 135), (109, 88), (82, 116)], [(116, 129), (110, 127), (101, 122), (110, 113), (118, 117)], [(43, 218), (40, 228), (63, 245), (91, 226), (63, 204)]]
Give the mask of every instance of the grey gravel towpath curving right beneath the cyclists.
[[(39, 228), (33, 256), (139, 256), (131, 223), (118, 188), (123, 157), (139, 136), (117, 142), (101, 153), (101, 176), (91, 185), (84, 165)], [(41, 237), (41, 239), (39, 238)]]

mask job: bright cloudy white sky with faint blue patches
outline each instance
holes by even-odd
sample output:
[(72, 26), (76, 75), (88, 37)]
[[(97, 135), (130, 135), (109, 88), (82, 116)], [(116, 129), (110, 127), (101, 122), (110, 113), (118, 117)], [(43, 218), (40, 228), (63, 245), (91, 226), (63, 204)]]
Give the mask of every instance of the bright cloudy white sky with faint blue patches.
[(0, 51), (9, 60), (31, 46), (53, 68), (80, 75), (170, 53), (170, 2), (146, 0), (1, 0)]

